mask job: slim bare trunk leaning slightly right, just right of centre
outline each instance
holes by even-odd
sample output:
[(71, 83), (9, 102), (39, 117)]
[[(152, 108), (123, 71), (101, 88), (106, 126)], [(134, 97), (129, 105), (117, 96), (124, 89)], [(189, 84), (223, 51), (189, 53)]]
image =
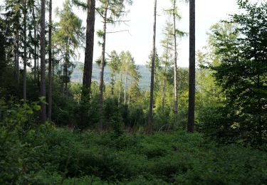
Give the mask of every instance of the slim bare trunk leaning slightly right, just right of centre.
[(156, 53), (156, 24), (157, 24), (157, 0), (154, 5), (154, 25), (153, 25), (153, 47), (152, 47), (152, 63), (151, 63), (151, 83), (150, 83), (150, 113), (148, 115), (147, 133), (153, 131), (153, 104), (154, 104), (154, 70), (155, 70), (155, 53)]

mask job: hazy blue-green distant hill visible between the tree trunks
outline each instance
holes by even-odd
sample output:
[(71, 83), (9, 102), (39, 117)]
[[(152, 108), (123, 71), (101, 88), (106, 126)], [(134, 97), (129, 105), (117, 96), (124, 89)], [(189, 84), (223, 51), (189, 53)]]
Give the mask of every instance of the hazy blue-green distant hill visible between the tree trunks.
[[(71, 75), (71, 81), (75, 83), (83, 82), (83, 63), (75, 63), (75, 68), (73, 69), (73, 74)], [(145, 65), (137, 65), (139, 68), (139, 73), (142, 76), (140, 78), (140, 88), (142, 90), (149, 90), (150, 88), (150, 70)], [(93, 81), (99, 81), (99, 68), (97, 64), (93, 64)], [(105, 83), (110, 83), (110, 68), (105, 67), (104, 81)]]

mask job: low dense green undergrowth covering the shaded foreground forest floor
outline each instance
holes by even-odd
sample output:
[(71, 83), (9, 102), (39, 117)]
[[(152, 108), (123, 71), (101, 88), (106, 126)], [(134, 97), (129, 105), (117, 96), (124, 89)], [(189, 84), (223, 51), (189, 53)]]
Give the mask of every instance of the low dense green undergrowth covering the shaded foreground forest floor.
[(117, 136), (49, 125), (23, 134), (22, 184), (267, 184), (266, 152), (201, 134)]

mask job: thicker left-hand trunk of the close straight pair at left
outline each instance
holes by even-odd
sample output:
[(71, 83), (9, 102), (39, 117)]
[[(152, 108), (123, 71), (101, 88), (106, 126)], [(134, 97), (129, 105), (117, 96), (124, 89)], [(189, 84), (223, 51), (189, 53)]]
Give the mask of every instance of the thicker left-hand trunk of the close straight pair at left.
[[(46, 101), (46, 1), (41, 0), (41, 93)], [(46, 123), (46, 103), (41, 102), (41, 124)]]

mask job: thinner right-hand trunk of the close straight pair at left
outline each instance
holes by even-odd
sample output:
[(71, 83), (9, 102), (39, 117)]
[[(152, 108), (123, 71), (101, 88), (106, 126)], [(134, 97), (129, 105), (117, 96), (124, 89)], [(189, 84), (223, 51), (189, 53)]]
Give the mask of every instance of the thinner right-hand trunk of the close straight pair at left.
[(52, 0), (49, 1), (48, 80), (48, 120), (52, 121)]

